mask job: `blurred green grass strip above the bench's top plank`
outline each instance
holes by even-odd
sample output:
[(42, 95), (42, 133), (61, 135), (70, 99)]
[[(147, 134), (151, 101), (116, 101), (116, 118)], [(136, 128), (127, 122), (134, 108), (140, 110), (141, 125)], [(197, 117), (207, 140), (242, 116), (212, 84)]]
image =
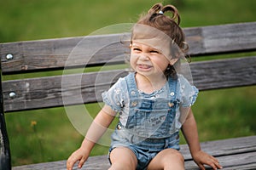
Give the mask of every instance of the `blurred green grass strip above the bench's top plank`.
[[(182, 26), (207, 26), (255, 20), (254, 0), (173, 0)], [(90, 34), (117, 23), (135, 22), (139, 14), (161, 1), (0, 0), (0, 42)]]

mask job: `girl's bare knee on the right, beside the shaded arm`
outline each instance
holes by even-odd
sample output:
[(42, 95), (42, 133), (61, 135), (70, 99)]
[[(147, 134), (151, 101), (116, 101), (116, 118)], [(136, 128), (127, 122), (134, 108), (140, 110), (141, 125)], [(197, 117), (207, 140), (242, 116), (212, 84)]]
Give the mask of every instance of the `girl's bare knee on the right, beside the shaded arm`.
[(174, 149), (160, 151), (148, 165), (148, 170), (184, 170), (184, 158), (182, 154)]

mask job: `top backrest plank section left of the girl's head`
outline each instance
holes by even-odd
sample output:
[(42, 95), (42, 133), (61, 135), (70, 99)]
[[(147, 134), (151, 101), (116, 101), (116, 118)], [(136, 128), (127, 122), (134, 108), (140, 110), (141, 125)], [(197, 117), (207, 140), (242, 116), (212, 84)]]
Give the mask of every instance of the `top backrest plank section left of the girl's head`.
[[(62, 69), (65, 66), (124, 62), (121, 35), (71, 37), (0, 45), (3, 74), (11, 71)], [(12, 54), (13, 59), (6, 59)]]

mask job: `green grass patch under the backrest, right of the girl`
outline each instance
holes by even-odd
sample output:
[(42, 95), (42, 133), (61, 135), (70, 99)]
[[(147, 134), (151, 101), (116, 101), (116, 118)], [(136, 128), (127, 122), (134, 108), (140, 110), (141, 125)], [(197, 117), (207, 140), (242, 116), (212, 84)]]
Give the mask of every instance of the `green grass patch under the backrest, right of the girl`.
[(255, 96), (255, 87), (201, 93), (194, 108), (201, 141), (255, 134)]

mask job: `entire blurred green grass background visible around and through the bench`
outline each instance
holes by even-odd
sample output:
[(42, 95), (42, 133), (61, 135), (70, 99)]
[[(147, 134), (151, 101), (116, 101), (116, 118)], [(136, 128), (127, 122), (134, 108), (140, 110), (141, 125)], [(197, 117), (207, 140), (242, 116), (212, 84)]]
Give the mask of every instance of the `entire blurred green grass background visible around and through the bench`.
[[(159, 2), (0, 0), (0, 42), (86, 36), (105, 26), (136, 22), (139, 14)], [(254, 0), (172, 0), (163, 3), (177, 6), (182, 27), (256, 19)], [(236, 54), (239, 55), (255, 53)], [(212, 56), (216, 57), (230, 57), (230, 54)], [(201, 59), (206, 58), (192, 61)], [(201, 141), (255, 135), (255, 96), (255, 87), (201, 92), (193, 106)], [(96, 115), (100, 109), (96, 104), (86, 106), (91, 115)], [(69, 122), (63, 108), (9, 113), (6, 122), (13, 166), (67, 159), (84, 138)], [(107, 153), (108, 147), (96, 145), (91, 155)]]

